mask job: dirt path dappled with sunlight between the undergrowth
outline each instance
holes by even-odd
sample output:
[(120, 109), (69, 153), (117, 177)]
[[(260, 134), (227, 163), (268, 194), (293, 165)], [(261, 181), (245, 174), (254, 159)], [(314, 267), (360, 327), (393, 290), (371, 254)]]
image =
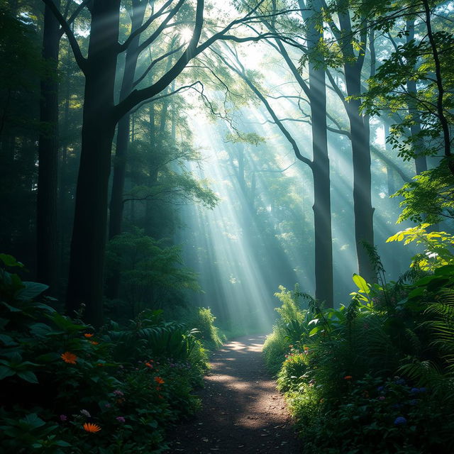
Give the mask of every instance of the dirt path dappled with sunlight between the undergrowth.
[(170, 453), (299, 454), (284, 399), (262, 361), (265, 336), (245, 336), (211, 357), (196, 419), (170, 434)]

